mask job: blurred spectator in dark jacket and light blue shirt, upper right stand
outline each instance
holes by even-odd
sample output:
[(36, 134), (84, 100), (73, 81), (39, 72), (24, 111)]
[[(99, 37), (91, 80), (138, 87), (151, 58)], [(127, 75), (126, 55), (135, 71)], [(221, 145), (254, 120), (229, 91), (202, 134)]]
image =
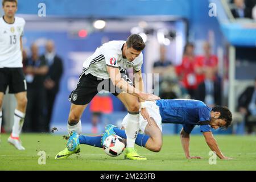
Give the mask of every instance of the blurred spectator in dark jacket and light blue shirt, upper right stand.
[(251, 10), (245, 6), (244, 0), (234, 0), (234, 6), (231, 10), (234, 18), (251, 18)]

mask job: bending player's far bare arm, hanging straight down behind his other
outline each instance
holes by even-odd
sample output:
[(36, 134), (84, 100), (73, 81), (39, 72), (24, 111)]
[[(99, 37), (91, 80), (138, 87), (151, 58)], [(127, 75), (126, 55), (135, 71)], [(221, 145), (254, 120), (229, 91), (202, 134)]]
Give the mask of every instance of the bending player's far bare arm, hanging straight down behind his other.
[[(135, 86), (135, 88), (137, 88), (141, 92), (144, 92), (144, 82), (143, 82), (141, 70), (137, 72), (135, 69), (133, 69), (133, 73), (134, 73), (134, 86)], [(143, 100), (142, 98), (139, 98), (139, 102), (141, 103), (141, 115), (144, 119), (147, 120), (148, 125), (151, 126), (152, 124), (151, 124), (150, 115), (148, 114), (146, 107), (143, 107), (143, 102), (144, 101), (145, 100)]]

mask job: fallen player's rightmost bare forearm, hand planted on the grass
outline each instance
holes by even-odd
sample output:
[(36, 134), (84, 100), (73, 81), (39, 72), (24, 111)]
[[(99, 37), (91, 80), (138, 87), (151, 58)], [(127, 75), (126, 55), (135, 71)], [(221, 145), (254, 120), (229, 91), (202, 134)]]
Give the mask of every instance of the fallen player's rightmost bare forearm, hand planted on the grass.
[(218, 147), (216, 139), (213, 137), (212, 132), (204, 132), (204, 138), (205, 138), (205, 142), (207, 142), (210, 149), (212, 151), (216, 152), (216, 155), (220, 159), (232, 159), (232, 158), (228, 158), (222, 154), (222, 152), (220, 151), (220, 148)]

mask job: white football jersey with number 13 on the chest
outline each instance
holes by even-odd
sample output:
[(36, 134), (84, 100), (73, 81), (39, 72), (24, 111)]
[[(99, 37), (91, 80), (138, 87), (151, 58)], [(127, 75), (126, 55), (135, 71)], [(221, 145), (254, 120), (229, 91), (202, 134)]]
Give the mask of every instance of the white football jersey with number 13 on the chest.
[(15, 16), (14, 23), (0, 18), (0, 68), (22, 68), (20, 36), (23, 35), (25, 20)]

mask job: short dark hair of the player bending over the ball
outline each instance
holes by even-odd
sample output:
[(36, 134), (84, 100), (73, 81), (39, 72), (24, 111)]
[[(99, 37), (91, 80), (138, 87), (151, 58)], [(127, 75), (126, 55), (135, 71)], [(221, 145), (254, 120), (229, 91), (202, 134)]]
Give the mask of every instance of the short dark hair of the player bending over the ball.
[(137, 51), (142, 51), (146, 46), (143, 39), (138, 34), (130, 35), (126, 40), (126, 44), (128, 48), (134, 48)]

